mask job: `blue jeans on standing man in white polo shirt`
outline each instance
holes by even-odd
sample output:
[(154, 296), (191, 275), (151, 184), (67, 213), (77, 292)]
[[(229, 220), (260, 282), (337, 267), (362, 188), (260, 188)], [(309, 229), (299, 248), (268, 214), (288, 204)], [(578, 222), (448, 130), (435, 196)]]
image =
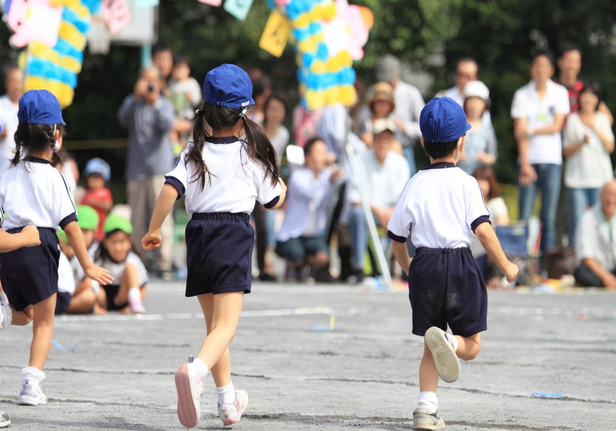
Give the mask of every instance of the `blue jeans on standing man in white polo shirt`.
[(561, 166), (553, 163), (533, 164), (537, 180), (530, 185), (520, 185), (520, 220), (528, 221), (533, 214), (537, 188), (541, 189), (541, 243), (545, 251), (554, 245), (556, 239), (556, 207), (561, 193)]

